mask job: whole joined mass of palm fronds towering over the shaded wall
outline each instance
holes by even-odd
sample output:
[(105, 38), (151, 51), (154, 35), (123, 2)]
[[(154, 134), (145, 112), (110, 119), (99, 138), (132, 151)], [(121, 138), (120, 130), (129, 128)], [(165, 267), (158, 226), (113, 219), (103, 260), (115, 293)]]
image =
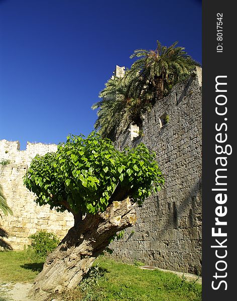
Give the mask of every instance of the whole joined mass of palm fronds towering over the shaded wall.
[(142, 115), (156, 100), (199, 65), (177, 44), (166, 47), (157, 41), (155, 50), (135, 50), (130, 58), (137, 60), (125, 76), (107, 81), (99, 93), (101, 100), (92, 105), (92, 109), (98, 109), (94, 127), (103, 137), (114, 140), (131, 123), (141, 125)]

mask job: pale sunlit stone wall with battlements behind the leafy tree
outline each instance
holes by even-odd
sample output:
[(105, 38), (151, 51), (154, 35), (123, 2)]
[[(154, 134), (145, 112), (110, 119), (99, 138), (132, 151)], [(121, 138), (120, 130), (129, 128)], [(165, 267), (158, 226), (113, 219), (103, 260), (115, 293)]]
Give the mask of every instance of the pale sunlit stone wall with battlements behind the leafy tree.
[(70, 213), (50, 210), (48, 205), (37, 206), (34, 195), (23, 184), (30, 162), (37, 155), (55, 152), (57, 145), (27, 142), (26, 150), (20, 150), (19, 141), (0, 140), (0, 185), (13, 216), (0, 218), (0, 248), (24, 249), (30, 243), (29, 236), (45, 229), (63, 238), (73, 226)]

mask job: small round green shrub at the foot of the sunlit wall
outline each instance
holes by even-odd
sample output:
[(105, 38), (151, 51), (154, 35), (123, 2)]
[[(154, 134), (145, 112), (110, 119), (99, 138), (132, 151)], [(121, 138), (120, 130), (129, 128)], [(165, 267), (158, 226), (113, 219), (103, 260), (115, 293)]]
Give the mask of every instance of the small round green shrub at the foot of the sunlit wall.
[(54, 233), (40, 230), (30, 236), (32, 239), (29, 246), (36, 255), (42, 259), (46, 258), (59, 244), (60, 240)]

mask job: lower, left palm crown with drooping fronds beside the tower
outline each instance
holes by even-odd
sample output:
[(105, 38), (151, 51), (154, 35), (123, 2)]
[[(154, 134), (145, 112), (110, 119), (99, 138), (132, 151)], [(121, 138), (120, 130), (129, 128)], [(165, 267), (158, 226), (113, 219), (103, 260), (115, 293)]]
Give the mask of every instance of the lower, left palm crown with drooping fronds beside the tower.
[(131, 123), (141, 124), (141, 114), (151, 108), (149, 99), (153, 98), (143, 90), (141, 80), (132, 74), (108, 80), (99, 93), (101, 100), (92, 105), (92, 109), (99, 109), (95, 129), (114, 140)]

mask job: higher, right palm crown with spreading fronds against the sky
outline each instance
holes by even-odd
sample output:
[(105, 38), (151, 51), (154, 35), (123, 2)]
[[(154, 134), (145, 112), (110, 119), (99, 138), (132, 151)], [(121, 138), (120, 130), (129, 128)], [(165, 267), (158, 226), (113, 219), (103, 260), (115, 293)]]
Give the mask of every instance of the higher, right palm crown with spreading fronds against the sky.
[(184, 47), (162, 46), (157, 41), (156, 50), (135, 50), (130, 58), (139, 58), (131, 67), (131, 73), (139, 74), (147, 89), (155, 89), (156, 98), (163, 98), (178, 82), (185, 80), (194, 69), (199, 66), (184, 51)]

